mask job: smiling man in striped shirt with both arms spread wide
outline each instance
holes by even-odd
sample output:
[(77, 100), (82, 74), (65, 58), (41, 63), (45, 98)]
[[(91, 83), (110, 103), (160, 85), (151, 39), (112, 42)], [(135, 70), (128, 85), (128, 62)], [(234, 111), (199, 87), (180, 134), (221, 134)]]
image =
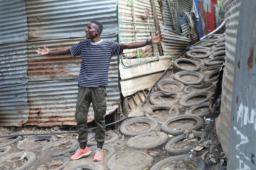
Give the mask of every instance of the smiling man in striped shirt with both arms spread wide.
[(79, 159), (91, 153), (86, 146), (87, 143), (87, 114), (90, 104), (94, 109), (94, 121), (97, 124), (95, 140), (97, 149), (94, 161), (102, 160), (102, 146), (105, 140), (105, 114), (106, 104), (106, 86), (108, 85), (108, 69), (110, 59), (113, 55), (121, 55), (123, 49), (135, 49), (149, 44), (157, 44), (164, 40), (163, 34), (157, 35), (156, 32), (151, 40), (131, 42), (128, 44), (117, 43), (111, 40), (101, 40), (100, 34), (103, 30), (102, 24), (97, 21), (91, 21), (85, 29), (86, 39), (70, 48), (49, 51), (37, 49), (39, 55), (65, 55), (71, 53), (73, 56), (82, 57), (81, 68), (78, 79), (78, 99), (76, 104), (75, 119), (78, 129), (78, 142), (80, 148), (70, 159)]

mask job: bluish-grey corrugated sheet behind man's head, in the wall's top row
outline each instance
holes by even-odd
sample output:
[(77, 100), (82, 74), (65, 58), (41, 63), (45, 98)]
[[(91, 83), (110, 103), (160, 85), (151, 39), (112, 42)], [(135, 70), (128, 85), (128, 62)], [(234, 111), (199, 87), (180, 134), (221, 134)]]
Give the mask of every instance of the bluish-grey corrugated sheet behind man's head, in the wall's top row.
[(101, 35), (116, 34), (116, 0), (26, 0), (28, 39), (84, 37), (90, 21), (104, 25)]

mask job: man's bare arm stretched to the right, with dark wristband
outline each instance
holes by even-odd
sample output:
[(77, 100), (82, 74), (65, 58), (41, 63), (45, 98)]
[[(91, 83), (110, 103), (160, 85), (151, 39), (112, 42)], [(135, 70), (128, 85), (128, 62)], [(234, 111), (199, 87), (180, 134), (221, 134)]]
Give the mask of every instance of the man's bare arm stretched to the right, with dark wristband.
[(161, 42), (162, 40), (164, 40), (165, 36), (164, 34), (161, 35), (157, 35), (158, 31), (151, 37), (150, 40), (147, 41), (139, 41), (139, 42), (130, 42), (128, 44), (121, 44), (121, 50), (123, 49), (137, 49), (140, 47), (144, 47), (148, 44), (158, 44), (159, 42)]

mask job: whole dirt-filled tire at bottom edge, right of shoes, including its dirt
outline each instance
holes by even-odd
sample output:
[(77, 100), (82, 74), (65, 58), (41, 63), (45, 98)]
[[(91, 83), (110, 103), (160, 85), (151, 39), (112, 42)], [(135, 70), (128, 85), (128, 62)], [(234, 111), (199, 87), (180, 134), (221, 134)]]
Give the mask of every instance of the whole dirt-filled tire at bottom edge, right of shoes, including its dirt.
[(149, 154), (138, 151), (126, 151), (114, 154), (108, 160), (107, 166), (111, 170), (142, 170), (152, 163), (153, 157)]

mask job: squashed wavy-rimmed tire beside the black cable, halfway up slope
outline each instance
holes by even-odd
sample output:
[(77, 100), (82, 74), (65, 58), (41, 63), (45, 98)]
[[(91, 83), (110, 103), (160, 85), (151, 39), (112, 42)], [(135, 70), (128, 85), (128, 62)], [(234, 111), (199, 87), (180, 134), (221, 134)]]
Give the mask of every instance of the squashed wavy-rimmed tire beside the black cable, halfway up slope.
[[(157, 102), (155, 101), (155, 98), (158, 97), (158, 96), (166, 96), (166, 97), (173, 97), (174, 100), (172, 100), (170, 103), (165, 103), (165, 102)], [(151, 104), (166, 104), (166, 105), (172, 105), (172, 104), (176, 104), (178, 102), (178, 100), (180, 98), (180, 94), (179, 93), (165, 93), (165, 92), (162, 92), (162, 91), (157, 91), (157, 92), (154, 92), (150, 98), (149, 98), (149, 102)]]

